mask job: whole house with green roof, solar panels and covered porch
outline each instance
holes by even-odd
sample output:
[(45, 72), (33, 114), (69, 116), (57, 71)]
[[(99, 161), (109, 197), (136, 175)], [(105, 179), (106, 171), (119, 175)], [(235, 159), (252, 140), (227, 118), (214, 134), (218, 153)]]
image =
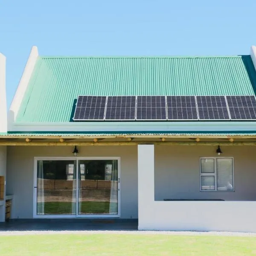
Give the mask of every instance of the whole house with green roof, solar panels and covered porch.
[[(256, 232), (256, 47), (217, 57), (40, 56), (6, 111), (0, 221), (138, 219)], [(119, 97), (117, 97), (119, 96)]]

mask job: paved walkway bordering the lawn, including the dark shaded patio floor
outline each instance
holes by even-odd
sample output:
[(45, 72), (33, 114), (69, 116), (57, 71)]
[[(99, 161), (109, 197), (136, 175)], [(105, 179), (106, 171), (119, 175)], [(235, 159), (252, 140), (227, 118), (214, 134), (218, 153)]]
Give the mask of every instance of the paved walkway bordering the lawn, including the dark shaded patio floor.
[(256, 233), (138, 231), (133, 219), (39, 219), (0, 223), (0, 236), (35, 234), (164, 234), (182, 236), (254, 236)]

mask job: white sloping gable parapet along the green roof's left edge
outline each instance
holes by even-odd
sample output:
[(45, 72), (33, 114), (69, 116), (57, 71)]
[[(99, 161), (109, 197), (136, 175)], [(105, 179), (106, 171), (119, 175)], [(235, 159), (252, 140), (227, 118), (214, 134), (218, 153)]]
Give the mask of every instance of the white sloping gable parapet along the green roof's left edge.
[(19, 85), (15, 92), (15, 96), (13, 97), (11, 106), (9, 108), (8, 127), (11, 127), (13, 122), (15, 122), (17, 113), (20, 108), (20, 104), (23, 100), (23, 96), (26, 92), (26, 88), (27, 88), (27, 86), (29, 84), (29, 80), (32, 76), (32, 72), (34, 70), (37, 58), (38, 58), (38, 48), (36, 46), (33, 46), (30, 51), (29, 58), (27, 60), (23, 74), (20, 78), (20, 82), (19, 82)]

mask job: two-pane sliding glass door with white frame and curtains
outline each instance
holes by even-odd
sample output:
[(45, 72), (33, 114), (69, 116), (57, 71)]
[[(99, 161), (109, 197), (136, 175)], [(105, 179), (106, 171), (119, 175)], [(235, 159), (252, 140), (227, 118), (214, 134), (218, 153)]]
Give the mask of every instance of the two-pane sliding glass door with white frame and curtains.
[(119, 159), (35, 158), (34, 217), (118, 217)]

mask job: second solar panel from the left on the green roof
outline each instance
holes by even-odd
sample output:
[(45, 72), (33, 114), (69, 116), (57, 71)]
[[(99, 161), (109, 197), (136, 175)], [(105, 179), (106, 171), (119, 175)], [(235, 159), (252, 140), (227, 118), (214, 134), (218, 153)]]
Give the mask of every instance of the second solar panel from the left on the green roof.
[(136, 96), (108, 96), (105, 120), (135, 120)]

